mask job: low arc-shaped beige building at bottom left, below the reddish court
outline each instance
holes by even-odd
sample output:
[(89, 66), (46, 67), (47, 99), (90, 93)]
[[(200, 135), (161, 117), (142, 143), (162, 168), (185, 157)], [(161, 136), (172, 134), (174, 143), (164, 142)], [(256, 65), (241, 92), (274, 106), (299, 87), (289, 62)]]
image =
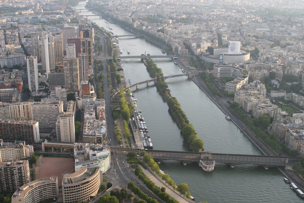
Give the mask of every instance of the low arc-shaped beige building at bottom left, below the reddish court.
[(41, 202), (58, 197), (57, 177), (34, 180), (20, 187), (12, 196), (12, 203)]

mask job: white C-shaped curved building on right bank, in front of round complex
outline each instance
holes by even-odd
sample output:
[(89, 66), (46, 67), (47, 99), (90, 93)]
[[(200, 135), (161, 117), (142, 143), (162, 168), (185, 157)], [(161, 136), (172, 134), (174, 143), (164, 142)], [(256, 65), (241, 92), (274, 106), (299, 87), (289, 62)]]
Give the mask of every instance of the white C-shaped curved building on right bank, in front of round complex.
[(214, 64), (213, 76), (215, 78), (229, 77), (234, 79), (233, 81), (226, 83), (226, 92), (236, 92), (247, 85), (249, 79), (249, 75), (245, 69), (234, 65)]

